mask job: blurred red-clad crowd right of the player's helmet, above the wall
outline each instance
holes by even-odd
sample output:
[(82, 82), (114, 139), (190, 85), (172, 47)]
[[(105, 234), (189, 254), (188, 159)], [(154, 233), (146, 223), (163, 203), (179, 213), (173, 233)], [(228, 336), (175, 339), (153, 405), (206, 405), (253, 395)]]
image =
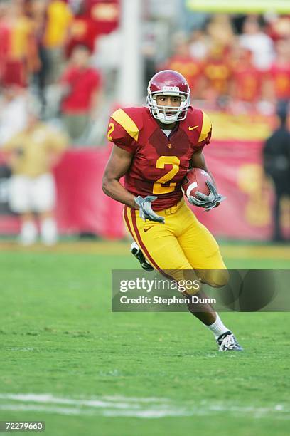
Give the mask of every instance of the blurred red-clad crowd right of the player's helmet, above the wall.
[(177, 33), (159, 68), (188, 79), (196, 100), (232, 113), (272, 113), (290, 98), (289, 16), (209, 17), (190, 35)]

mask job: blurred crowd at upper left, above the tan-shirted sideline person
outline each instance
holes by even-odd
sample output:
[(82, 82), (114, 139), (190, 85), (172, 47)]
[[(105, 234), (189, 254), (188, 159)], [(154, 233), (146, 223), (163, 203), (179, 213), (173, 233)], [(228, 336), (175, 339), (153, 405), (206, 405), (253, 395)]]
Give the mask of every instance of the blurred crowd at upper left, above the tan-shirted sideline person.
[(0, 145), (26, 125), (31, 100), (39, 103), (39, 118), (65, 130), (72, 144), (86, 145), (103, 88), (92, 63), (95, 40), (117, 26), (117, 12), (98, 5), (0, 2)]

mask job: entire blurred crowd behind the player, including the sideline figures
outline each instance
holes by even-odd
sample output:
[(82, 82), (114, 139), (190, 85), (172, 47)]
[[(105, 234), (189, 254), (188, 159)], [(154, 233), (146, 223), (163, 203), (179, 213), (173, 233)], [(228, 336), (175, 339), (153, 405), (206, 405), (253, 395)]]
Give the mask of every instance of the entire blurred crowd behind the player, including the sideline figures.
[[(290, 185), (290, 16), (203, 14), (183, 33), (173, 16), (145, 15), (144, 100), (151, 76), (168, 68), (187, 78), (201, 108), (234, 115), (284, 108), (281, 128), (264, 148), (280, 240), (280, 198)], [(33, 244), (38, 230), (45, 244), (57, 240), (53, 167), (65, 149), (106, 144), (124, 50), (119, 16), (119, 0), (0, 0), (2, 186), (11, 175), (2, 204), (7, 199), (21, 218), (21, 244)]]

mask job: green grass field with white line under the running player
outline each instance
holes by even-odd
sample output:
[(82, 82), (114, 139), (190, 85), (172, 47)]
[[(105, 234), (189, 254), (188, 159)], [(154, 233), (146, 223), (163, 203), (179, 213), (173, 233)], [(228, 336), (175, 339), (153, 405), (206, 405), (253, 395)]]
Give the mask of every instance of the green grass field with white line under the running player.
[[(218, 353), (189, 313), (111, 313), (129, 244), (1, 244), (0, 420), (48, 436), (287, 435), (289, 313), (224, 313)], [(289, 249), (224, 246), (231, 268), (290, 267)]]

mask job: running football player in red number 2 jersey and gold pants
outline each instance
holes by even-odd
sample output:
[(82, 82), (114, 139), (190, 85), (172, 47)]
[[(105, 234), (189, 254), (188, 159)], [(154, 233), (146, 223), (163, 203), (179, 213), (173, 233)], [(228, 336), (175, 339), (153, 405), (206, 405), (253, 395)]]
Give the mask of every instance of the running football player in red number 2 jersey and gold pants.
[[(142, 266), (176, 281), (185, 271), (198, 271), (210, 286), (227, 283), (227, 269), (217, 242), (186, 205), (181, 184), (190, 167), (208, 172), (203, 147), (210, 142), (211, 123), (202, 110), (190, 106), (190, 88), (177, 71), (156, 73), (148, 86), (147, 106), (124, 108), (109, 120), (112, 154), (103, 177), (104, 193), (123, 203), (124, 222), (134, 239), (132, 251)], [(124, 186), (119, 182), (124, 176)], [(205, 209), (223, 197), (209, 184), (210, 194), (190, 197)], [(172, 273), (174, 271), (174, 273)], [(197, 296), (204, 296), (199, 291)], [(209, 304), (188, 308), (213, 332), (220, 351), (241, 351), (232, 331)]]

